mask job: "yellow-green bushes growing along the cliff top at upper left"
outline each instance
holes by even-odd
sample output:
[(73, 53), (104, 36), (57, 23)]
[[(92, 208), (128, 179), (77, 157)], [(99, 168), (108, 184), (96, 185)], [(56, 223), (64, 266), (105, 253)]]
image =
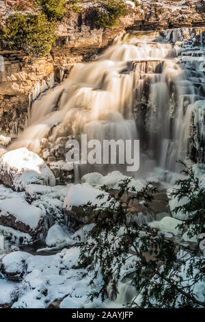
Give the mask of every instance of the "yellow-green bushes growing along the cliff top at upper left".
[[(126, 14), (124, 0), (100, 0), (92, 5), (85, 0), (18, 0), (10, 1), (14, 13), (5, 20), (0, 30), (3, 47), (23, 50), (31, 58), (40, 58), (51, 50), (56, 39), (57, 21), (68, 10), (92, 10), (96, 27), (115, 27)], [(17, 12), (16, 12), (17, 11)]]

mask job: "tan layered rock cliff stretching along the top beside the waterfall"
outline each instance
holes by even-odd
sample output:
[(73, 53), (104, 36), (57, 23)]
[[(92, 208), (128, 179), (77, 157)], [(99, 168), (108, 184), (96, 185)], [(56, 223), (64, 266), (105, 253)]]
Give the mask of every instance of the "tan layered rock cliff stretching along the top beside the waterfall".
[(88, 61), (126, 29), (147, 30), (201, 26), (204, 0), (137, 1), (114, 29), (96, 29), (92, 16), (72, 13), (59, 24), (51, 54), (31, 64), (27, 55), (0, 48), (0, 132), (16, 136), (29, 118), (31, 101), (66, 77), (72, 65)]

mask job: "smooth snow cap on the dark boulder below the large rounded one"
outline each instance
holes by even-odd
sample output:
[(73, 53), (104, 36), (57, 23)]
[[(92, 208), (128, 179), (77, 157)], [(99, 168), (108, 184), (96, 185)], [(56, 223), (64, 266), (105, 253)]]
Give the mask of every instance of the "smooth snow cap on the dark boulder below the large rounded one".
[(1, 216), (8, 216), (12, 214), (16, 217), (16, 221), (21, 221), (31, 227), (31, 229), (36, 229), (44, 216), (42, 210), (37, 207), (29, 205), (27, 201), (20, 198), (4, 199), (0, 201), (0, 211)]

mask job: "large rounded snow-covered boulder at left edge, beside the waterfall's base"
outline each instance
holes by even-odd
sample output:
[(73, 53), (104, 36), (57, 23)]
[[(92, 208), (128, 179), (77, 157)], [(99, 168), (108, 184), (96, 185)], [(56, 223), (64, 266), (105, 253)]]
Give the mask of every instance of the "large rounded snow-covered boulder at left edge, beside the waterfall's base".
[(51, 169), (36, 153), (26, 148), (12, 150), (1, 156), (0, 179), (17, 191), (25, 190), (27, 184), (55, 186)]

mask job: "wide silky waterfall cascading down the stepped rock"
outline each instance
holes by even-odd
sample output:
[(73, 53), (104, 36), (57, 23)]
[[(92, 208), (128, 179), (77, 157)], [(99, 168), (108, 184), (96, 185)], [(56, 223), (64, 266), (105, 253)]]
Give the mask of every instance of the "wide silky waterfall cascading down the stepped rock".
[[(178, 172), (176, 160), (187, 157), (193, 104), (201, 98), (193, 83), (202, 73), (184, 69), (177, 55), (172, 45), (159, 42), (159, 32), (125, 34), (97, 61), (77, 64), (68, 80), (36, 100), (29, 127), (10, 149), (39, 153), (42, 138), (49, 138), (52, 155), (57, 138), (80, 134), (101, 142), (139, 139), (139, 175)], [(80, 165), (76, 176), (113, 169), (125, 173), (122, 164), (96, 164)]]

